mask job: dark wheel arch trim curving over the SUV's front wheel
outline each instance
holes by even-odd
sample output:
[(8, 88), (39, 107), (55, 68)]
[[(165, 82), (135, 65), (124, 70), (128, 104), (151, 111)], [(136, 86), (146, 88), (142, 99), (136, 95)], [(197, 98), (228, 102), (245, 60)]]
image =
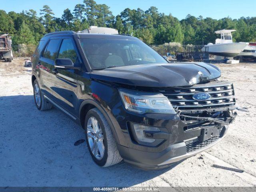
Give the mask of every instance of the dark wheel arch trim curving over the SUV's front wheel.
[(106, 118), (106, 120), (108, 121), (108, 124), (112, 130), (112, 134), (116, 140), (117, 144), (120, 144), (119, 139), (118, 139), (118, 135), (117, 132), (114, 128), (114, 125), (111, 121), (111, 118), (109, 117), (108, 113), (106, 112), (106, 110), (96, 101), (92, 100), (92, 99), (87, 99), (84, 100), (82, 102), (82, 104), (80, 105), (79, 108), (79, 119), (80, 119), (80, 124), (82, 126), (82, 128), (84, 129), (84, 119), (86, 117), (87, 112), (92, 109), (92, 108), (97, 108), (98, 110), (100, 110), (100, 112), (104, 115), (104, 117)]

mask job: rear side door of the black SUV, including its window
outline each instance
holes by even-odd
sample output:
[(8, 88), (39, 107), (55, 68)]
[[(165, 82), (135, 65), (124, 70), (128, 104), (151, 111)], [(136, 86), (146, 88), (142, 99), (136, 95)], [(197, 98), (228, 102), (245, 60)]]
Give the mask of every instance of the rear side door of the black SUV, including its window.
[(40, 78), (41, 90), (49, 97), (52, 97), (52, 76), (54, 73), (54, 61), (57, 57), (60, 38), (53, 38), (48, 41), (38, 60), (38, 77)]

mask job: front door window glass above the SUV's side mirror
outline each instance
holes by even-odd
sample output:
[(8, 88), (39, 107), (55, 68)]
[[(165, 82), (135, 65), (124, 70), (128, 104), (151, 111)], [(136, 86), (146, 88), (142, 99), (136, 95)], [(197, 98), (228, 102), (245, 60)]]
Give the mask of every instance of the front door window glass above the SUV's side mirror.
[(76, 63), (77, 55), (71, 39), (63, 39), (58, 58), (71, 59)]

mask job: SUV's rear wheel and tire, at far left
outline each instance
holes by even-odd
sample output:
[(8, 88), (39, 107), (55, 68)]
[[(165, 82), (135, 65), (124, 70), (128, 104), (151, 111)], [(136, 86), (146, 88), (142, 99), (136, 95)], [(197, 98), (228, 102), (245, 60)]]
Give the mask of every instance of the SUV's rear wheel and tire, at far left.
[(36, 108), (40, 111), (49, 110), (52, 108), (52, 104), (46, 100), (44, 94), (41, 92), (39, 84), (37, 80), (33, 82), (33, 90), (34, 90), (34, 100), (36, 104)]

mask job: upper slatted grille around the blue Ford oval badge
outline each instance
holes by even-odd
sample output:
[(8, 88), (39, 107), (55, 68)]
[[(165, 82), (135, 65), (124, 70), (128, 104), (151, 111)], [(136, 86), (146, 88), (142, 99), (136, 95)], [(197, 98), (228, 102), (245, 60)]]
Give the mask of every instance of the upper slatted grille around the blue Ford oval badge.
[[(229, 82), (214, 81), (206, 84), (196, 84), (190, 87), (174, 87), (161, 89), (171, 102), (174, 108), (180, 110), (196, 110), (234, 106), (234, 88)], [(193, 95), (198, 92), (210, 94), (211, 98), (204, 101), (193, 99)]]

